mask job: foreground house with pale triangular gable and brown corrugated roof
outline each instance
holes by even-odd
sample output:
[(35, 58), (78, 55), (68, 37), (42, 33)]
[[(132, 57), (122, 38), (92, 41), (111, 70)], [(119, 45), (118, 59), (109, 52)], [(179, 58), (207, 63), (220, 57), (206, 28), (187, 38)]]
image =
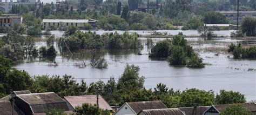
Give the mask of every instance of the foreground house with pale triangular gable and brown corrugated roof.
[(148, 102), (127, 102), (123, 104), (114, 114), (115, 115), (138, 114), (142, 110), (151, 110), (151, 109), (167, 109), (167, 107), (160, 100), (148, 101)]

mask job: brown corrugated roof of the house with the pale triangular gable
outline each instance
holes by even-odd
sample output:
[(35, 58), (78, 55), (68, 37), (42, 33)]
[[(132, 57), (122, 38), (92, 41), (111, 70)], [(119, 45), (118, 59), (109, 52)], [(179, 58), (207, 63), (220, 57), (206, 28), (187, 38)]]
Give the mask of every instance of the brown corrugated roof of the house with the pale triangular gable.
[(128, 102), (127, 104), (136, 113), (139, 113), (142, 110), (167, 109), (165, 104), (163, 102), (161, 102), (160, 100), (147, 101), (147, 102)]

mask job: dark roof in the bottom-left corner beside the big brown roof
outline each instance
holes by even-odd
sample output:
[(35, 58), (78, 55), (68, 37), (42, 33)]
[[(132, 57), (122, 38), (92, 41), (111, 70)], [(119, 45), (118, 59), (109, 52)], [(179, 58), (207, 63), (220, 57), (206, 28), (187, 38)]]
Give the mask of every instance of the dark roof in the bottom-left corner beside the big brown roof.
[[(12, 105), (10, 101), (4, 100), (4, 101), (0, 101), (0, 114), (1, 115), (10, 115), (12, 114)], [(17, 107), (15, 106), (15, 111), (14, 114), (18, 115), (21, 114), (21, 112), (17, 109)]]

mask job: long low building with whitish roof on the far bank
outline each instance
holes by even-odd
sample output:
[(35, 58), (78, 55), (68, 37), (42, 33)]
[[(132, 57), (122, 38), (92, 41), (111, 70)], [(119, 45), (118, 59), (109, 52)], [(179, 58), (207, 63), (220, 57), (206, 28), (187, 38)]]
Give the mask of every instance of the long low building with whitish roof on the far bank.
[(85, 24), (91, 24), (92, 26), (96, 26), (97, 22), (95, 19), (43, 19), (43, 27), (47, 28), (48, 26), (59, 26), (63, 24), (65, 26), (76, 26), (83, 27)]

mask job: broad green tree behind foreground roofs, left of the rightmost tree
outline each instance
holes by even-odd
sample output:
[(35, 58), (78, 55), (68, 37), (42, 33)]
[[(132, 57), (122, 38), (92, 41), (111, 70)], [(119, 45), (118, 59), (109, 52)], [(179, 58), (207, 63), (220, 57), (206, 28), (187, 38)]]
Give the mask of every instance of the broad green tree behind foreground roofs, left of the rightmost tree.
[(191, 107), (212, 105), (215, 102), (214, 91), (204, 91), (197, 89), (186, 89), (180, 94), (180, 106)]

